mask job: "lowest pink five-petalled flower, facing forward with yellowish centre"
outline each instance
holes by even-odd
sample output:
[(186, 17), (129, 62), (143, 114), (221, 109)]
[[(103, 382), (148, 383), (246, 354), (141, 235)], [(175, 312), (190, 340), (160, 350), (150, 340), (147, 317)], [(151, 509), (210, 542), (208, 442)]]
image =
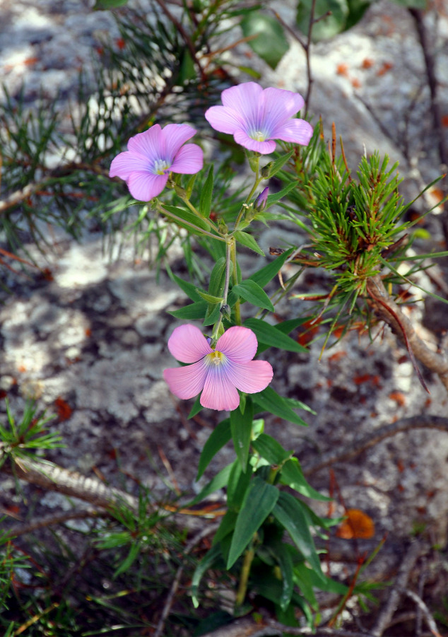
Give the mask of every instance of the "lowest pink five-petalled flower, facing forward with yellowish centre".
[(257, 337), (247, 327), (230, 327), (211, 349), (201, 330), (194, 325), (176, 327), (168, 349), (186, 367), (165, 369), (163, 377), (178, 398), (187, 399), (202, 391), (201, 405), (232, 411), (240, 404), (240, 392), (261, 392), (272, 380), (267, 361), (252, 361)]

